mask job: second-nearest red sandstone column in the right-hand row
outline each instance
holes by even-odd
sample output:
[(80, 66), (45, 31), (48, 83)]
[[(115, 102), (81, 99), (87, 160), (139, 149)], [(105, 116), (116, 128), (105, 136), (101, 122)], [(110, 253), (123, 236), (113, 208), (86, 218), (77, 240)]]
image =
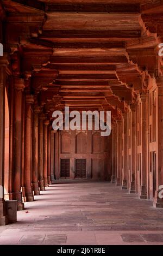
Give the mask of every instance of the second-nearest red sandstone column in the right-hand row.
[(142, 141), (142, 170), (141, 170), (141, 190), (140, 198), (147, 199), (147, 93), (141, 94), (141, 141)]

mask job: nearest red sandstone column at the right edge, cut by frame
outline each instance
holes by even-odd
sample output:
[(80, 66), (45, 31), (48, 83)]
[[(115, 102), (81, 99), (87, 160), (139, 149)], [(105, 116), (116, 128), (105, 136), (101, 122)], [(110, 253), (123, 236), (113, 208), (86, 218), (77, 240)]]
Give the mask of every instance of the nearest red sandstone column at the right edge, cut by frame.
[[(156, 158), (156, 189), (153, 205), (155, 207), (163, 208), (163, 199), (159, 198), (160, 185), (163, 185), (163, 78), (157, 78), (156, 84), (158, 85), (158, 104), (156, 108), (156, 141), (158, 142), (158, 154)], [(163, 193), (160, 193), (161, 195)]]

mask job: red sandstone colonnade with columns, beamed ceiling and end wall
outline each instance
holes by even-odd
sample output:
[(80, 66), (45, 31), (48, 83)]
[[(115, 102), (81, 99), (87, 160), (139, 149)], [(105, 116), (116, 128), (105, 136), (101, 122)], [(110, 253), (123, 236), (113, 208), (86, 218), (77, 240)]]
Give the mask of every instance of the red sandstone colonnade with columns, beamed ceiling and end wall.
[[(59, 2), (0, 3), (1, 225), (4, 200), (23, 210), (60, 178), (110, 181), (163, 206), (163, 5)], [(55, 132), (65, 106), (111, 111), (111, 135)]]

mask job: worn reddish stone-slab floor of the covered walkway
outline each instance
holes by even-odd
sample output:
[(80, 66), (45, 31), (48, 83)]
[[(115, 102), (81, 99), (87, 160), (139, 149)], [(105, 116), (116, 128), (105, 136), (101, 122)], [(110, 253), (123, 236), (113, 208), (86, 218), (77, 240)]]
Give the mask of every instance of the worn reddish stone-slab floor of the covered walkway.
[(163, 245), (163, 209), (108, 182), (51, 185), (25, 207), (1, 245)]

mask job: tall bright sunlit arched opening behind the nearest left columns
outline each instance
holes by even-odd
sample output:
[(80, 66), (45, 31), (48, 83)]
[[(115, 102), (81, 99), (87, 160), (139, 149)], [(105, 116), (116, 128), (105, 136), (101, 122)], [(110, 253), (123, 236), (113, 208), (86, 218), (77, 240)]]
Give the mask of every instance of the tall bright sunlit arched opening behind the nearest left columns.
[(4, 198), (9, 199), (9, 104), (5, 90), (5, 135), (4, 135)]

